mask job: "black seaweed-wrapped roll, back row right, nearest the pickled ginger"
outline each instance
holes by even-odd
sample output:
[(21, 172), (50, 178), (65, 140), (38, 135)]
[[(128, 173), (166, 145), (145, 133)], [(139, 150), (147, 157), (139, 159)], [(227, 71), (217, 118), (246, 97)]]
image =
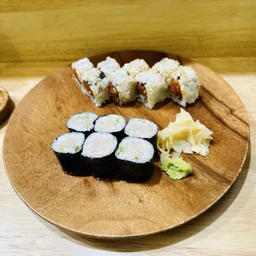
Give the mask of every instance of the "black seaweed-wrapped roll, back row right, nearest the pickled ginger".
[(153, 122), (141, 118), (131, 118), (126, 125), (125, 135), (148, 140), (156, 147), (159, 127)]

